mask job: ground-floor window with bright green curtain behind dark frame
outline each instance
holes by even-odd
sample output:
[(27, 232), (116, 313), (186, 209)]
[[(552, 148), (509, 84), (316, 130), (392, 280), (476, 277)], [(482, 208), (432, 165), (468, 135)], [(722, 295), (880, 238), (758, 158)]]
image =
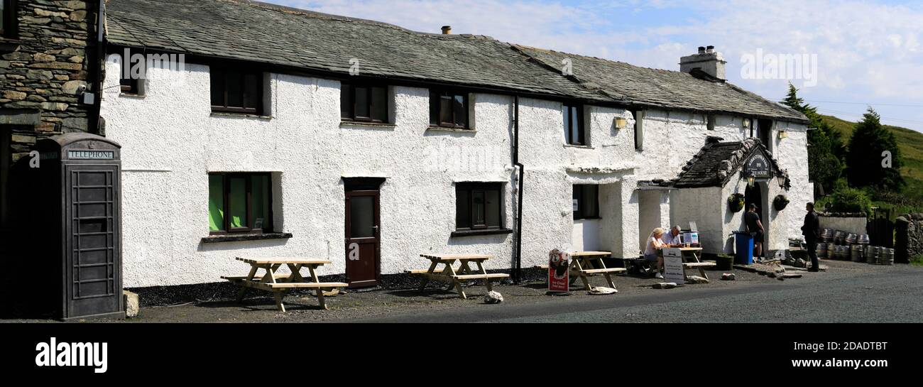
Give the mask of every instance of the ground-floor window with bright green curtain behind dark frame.
[(211, 234), (272, 230), (270, 174), (209, 174)]

